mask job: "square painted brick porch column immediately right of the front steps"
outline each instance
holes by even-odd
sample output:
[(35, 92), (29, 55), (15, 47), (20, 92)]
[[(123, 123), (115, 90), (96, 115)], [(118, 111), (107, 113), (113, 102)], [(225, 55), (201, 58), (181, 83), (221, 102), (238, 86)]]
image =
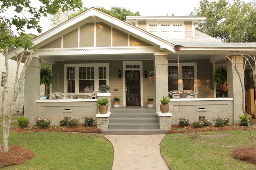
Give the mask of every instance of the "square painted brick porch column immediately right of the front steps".
[(168, 52), (155, 52), (154, 73), (155, 73), (155, 103), (156, 111), (160, 112), (160, 100), (163, 95), (168, 95)]

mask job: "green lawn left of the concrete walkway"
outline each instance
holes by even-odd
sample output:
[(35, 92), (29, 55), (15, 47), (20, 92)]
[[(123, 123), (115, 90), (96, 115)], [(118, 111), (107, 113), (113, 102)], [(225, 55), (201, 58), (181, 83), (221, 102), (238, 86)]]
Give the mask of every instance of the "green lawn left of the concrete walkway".
[[(17, 122), (11, 123), (16, 128)], [(0, 129), (0, 133), (1, 129)], [(0, 136), (2, 143), (2, 135)], [(111, 169), (114, 150), (102, 134), (13, 132), (9, 146), (28, 147), (36, 156), (28, 163), (2, 169)]]

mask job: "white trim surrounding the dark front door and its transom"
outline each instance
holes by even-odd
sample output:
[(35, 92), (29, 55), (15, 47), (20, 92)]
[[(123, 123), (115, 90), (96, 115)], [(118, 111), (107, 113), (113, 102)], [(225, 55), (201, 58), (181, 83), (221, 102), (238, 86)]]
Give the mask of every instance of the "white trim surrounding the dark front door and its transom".
[[(140, 68), (126, 68), (126, 65), (140, 65)], [(125, 95), (125, 70), (139, 70), (140, 71), (140, 106), (143, 107), (143, 70), (142, 61), (123, 61), (123, 106), (126, 106)]]

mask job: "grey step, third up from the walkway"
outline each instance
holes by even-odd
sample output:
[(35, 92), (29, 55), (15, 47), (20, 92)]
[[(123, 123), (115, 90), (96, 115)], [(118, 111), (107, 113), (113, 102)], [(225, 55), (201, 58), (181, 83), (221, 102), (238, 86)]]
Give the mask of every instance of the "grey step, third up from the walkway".
[(110, 118), (110, 124), (157, 124), (157, 118)]

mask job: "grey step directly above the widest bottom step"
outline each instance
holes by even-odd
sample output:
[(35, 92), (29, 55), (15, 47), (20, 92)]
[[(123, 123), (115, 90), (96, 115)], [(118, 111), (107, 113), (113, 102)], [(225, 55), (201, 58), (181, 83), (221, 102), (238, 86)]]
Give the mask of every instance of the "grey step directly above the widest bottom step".
[(109, 129), (159, 129), (159, 124), (109, 124)]

